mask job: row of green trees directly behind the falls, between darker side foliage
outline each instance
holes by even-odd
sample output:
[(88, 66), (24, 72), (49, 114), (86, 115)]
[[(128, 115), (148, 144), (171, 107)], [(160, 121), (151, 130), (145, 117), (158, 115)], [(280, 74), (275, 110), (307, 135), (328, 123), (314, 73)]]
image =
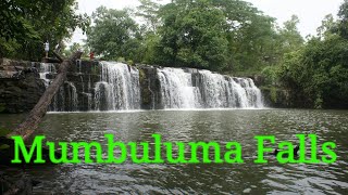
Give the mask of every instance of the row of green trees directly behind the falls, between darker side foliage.
[(103, 60), (185, 66), (224, 73), (260, 73), (303, 39), (293, 16), (284, 28), (251, 3), (240, 0), (173, 0), (162, 5), (140, 0), (129, 10), (100, 6), (92, 14), (87, 46)]

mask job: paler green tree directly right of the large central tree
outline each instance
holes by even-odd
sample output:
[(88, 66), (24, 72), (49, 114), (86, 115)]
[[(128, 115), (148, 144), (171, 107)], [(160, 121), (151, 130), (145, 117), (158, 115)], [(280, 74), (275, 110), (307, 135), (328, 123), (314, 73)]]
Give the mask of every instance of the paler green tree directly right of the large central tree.
[(213, 4), (223, 11), (228, 28), (228, 67), (225, 70), (259, 72), (273, 63), (276, 55), (275, 18), (264, 15), (251, 3), (239, 0), (215, 0)]

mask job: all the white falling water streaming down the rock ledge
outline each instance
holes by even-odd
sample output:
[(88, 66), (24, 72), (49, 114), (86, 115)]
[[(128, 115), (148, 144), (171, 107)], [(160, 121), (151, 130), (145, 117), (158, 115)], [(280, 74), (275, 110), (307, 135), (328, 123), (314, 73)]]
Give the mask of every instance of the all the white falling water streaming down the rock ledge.
[[(77, 62), (73, 81), (65, 81), (54, 96), (51, 110), (137, 110), (141, 107), (139, 70), (123, 63), (100, 62), (99, 81), (85, 73)], [(96, 66), (97, 67), (97, 66)], [(95, 67), (95, 68), (96, 68)], [(84, 69), (84, 73), (82, 70)], [(262, 108), (262, 95), (250, 78), (223, 76), (209, 70), (157, 68), (159, 89), (151, 89), (152, 108)], [(48, 74), (55, 74), (53, 64), (41, 63), (40, 78), (46, 87)], [(88, 77), (87, 77), (87, 75)], [(97, 77), (98, 78), (98, 77)], [(85, 83), (86, 82), (86, 83)], [(152, 86), (153, 87), (153, 86)], [(160, 91), (157, 91), (160, 90)], [(157, 99), (156, 99), (157, 96)]]

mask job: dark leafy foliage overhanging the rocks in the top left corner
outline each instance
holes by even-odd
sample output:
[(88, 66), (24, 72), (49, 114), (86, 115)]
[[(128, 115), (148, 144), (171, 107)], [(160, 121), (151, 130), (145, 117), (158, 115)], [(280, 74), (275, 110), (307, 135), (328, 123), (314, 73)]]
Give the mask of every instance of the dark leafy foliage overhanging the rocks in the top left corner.
[(47, 40), (53, 48), (89, 20), (75, 14), (75, 0), (5, 0), (0, 2), (0, 56), (37, 61)]

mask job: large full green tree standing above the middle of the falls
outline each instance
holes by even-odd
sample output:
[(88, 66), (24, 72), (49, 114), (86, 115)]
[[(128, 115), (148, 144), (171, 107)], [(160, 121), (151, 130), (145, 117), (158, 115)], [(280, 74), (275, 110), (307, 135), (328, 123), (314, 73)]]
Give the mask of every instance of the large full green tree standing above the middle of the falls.
[(160, 10), (160, 64), (222, 69), (226, 65), (226, 21), (208, 1), (176, 1)]

